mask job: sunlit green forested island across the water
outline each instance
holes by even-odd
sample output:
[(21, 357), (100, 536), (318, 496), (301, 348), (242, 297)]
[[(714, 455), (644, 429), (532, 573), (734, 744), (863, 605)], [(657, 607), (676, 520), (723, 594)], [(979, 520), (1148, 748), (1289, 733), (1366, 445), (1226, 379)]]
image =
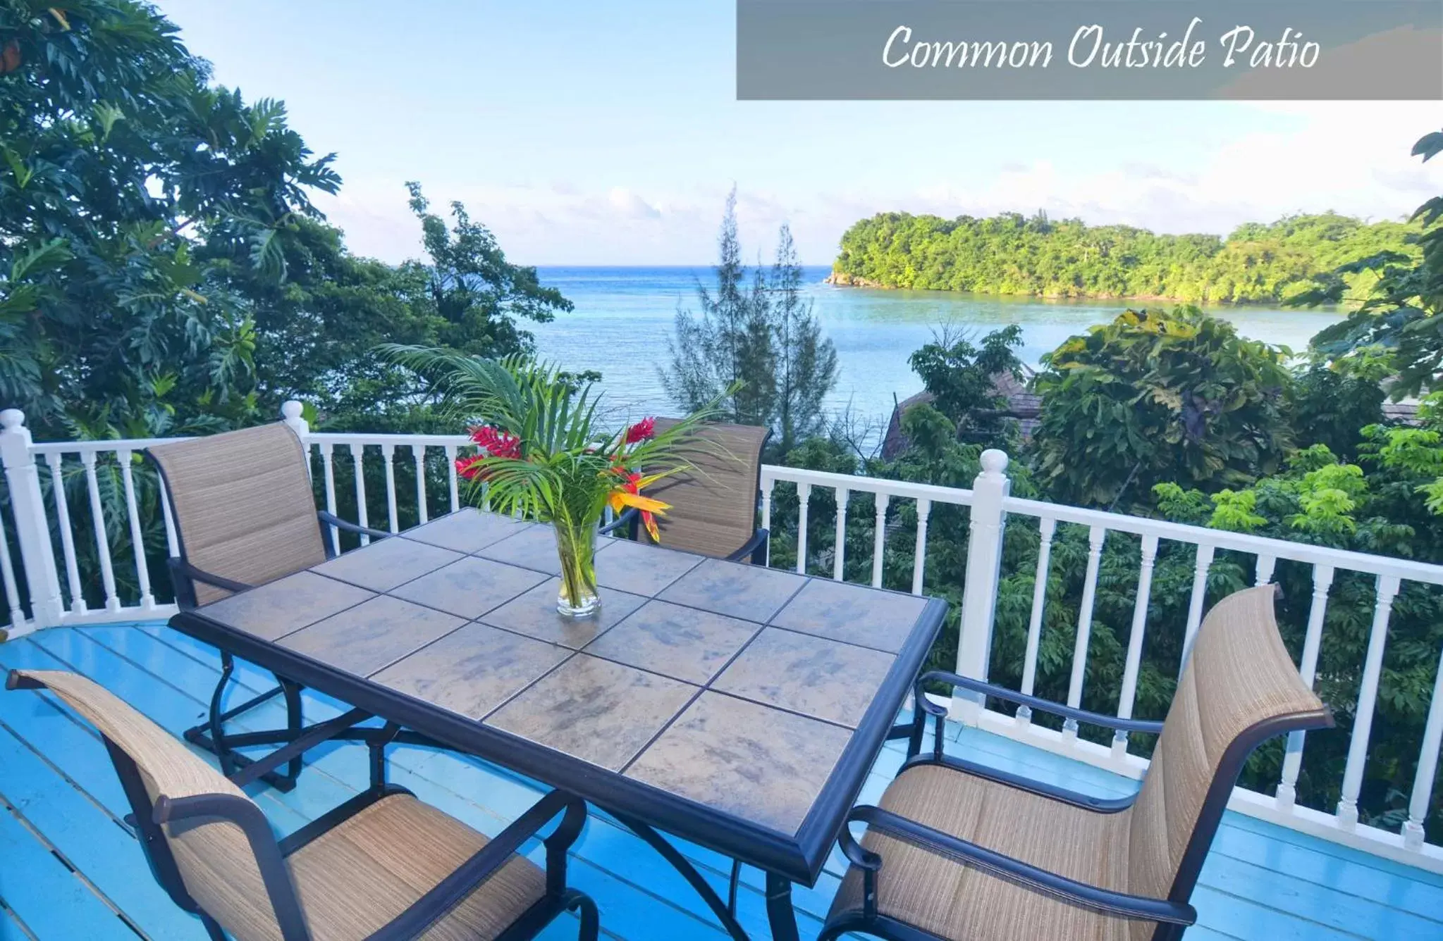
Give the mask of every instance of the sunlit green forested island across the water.
[[(841, 236), (834, 284), (859, 287), (1268, 304), (1312, 287), (1315, 275), (1392, 251), (1416, 255), (1414, 223), (1338, 213), (1250, 222), (1231, 235), (1159, 235), (1126, 225), (1003, 213), (991, 219), (887, 212)], [(1364, 295), (1374, 275), (1348, 275)]]

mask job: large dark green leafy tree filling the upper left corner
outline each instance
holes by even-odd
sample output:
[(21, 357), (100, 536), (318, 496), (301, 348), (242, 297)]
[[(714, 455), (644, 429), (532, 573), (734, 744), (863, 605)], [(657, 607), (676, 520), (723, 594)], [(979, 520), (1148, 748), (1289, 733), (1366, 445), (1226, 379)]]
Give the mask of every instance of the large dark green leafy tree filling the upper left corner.
[(254, 323), (198, 257), (278, 280), (277, 232), (339, 184), (175, 32), (130, 0), (0, 0), (0, 399), (40, 437), (247, 421)]

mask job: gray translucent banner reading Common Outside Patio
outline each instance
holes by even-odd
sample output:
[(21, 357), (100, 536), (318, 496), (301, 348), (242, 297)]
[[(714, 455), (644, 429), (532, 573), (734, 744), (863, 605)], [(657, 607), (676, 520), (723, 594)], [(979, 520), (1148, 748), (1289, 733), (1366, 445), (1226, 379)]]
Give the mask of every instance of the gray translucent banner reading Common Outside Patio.
[(739, 99), (1443, 99), (1443, 0), (737, 0)]

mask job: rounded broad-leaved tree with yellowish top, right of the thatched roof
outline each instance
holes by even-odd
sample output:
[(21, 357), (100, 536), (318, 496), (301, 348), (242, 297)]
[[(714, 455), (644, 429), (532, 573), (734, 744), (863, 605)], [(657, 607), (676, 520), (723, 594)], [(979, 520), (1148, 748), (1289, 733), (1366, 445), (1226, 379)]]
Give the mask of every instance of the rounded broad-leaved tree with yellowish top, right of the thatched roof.
[(1153, 484), (1221, 490), (1274, 473), (1289, 447), (1284, 352), (1196, 308), (1124, 311), (1043, 357), (1033, 435), (1058, 500), (1115, 506)]

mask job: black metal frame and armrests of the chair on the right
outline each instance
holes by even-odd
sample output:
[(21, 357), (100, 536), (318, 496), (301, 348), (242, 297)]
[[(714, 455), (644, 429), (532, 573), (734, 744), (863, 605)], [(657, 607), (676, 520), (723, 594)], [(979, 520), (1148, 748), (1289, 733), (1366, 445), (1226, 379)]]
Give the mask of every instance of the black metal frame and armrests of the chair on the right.
[[(993, 683), (986, 683), (983, 680), (934, 670), (919, 676), (912, 689), (913, 708), (911, 731), (908, 735), (908, 759), (898, 771), (898, 777), (916, 765), (942, 765), (954, 771), (961, 771), (1004, 784), (1007, 787), (1030, 791), (1040, 797), (1072, 804), (1095, 813), (1118, 813), (1131, 807), (1137, 800), (1136, 794), (1123, 798), (1102, 798), (1089, 794), (1079, 794), (1076, 791), (1069, 791), (1066, 788), (1045, 784), (1042, 781), (1033, 781), (1030, 778), (997, 771), (994, 768), (987, 768), (984, 765), (947, 755), (944, 752), (947, 706), (928, 699), (926, 686), (931, 683), (945, 683), (954, 689), (960, 687), (974, 693), (994, 696), (1038, 712), (1046, 712), (1074, 722), (1097, 725), (1120, 732), (1157, 735), (1163, 729), (1162, 722), (1147, 719), (1121, 719), (1118, 716), (1107, 716), (1098, 712), (1088, 712), (1085, 709), (1074, 709), (1046, 699), (1038, 699), (1036, 696), (1027, 696), (1025, 693), (996, 686)], [(925, 738), (928, 716), (932, 716), (934, 719), (932, 749), (924, 754), (922, 739)], [(1296, 731), (1332, 728), (1332, 725), (1333, 719), (1330, 713), (1328, 713), (1323, 721), (1312, 718), (1273, 719), (1254, 725), (1234, 739), (1234, 742), (1224, 752), (1222, 761), (1212, 777), (1206, 798), (1203, 800), (1202, 813), (1193, 827), (1192, 837), (1183, 852), (1182, 865), (1177, 869), (1177, 875), (1173, 879), (1172, 889), (1169, 891), (1166, 899), (1128, 895), (1126, 892), (1114, 892), (1088, 885), (1085, 882), (1078, 882), (1075, 879), (1048, 872), (1046, 869), (1032, 866), (1019, 859), (1004, 856), (1003, 853), (990, 850), (986, 846), (978, 846), (977, 843), (958, 839), (949, 833), (942, 833), (941, 830), (908, 820), (906, 817), (900, 817), (880, 807), (856, 807), (847, 816), (848, 826), (843, 829), (837, 843), (847, 860), (861, 870), (863, 909), (860, 914), (848, 914), (835, 921), (828, 921), (823, 928), (823, 932), (818, 935), (818, 941), (835, 941), (835, 938), (853, 931), (870, 934), (879, 938), (889, 938), (892, 941), (945, 941), (938, 935), (922, 931), (921, 928), (896, 918), (889, 918), (877, 911), (877, 873), (883, 868), (883, 859), (882, 855), (873, 853), (861, 846), (857, 837), (851, 833), (850, 824), (853, 823), (866, 824), (867, 829), (874, 829), (892, 839), (909, 843), (960, 865), (971, 866), (997, 879), (1006, 879), (1007, 882), (1068, 905), (1085, 908), (1113, 918), (1157, 922), (1157, 928), (1153, 932), (1153, 941), (1180, 941), (1183, 931), (1186, 931), (1186, 928), (1198, 919), (1198, 912), (1189, 904), (1189, 899), (1192, 898), (1193, 888), (1198, 885), (1198, 876), (1202, 870), (1202, 863), (1206, 859), (1208, 849), (1212, 846), (1212, 837), (1216, 834), (1218, 824), (1222, 821), (1222, 813), (1227, 810), (1228, 797), (1232, 794), (1232, 787), (1235, 785), (1238, 775), (1242, 772), (1242, 765), (1247, 762), (1248, 757), (1258, 745), (1277, 735)]]

